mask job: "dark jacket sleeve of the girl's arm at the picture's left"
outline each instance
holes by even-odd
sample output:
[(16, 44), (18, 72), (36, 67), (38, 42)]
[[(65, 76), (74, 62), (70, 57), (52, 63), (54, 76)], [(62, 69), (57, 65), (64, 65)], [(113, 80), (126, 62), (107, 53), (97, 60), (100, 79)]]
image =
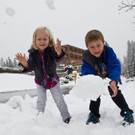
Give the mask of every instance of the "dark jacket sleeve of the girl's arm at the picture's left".
[(28, 72), (31, 72), (31, 71), (34, 70), (35, 62), (34, 62), (33, 57), (32, 57), (31, 54), (29, 55), (29, 59), (28, 59), (27, 62), (28, 62), (28, 68), (24, 67), (24, 69), (22, 71), (23, 73), (28, 73)]

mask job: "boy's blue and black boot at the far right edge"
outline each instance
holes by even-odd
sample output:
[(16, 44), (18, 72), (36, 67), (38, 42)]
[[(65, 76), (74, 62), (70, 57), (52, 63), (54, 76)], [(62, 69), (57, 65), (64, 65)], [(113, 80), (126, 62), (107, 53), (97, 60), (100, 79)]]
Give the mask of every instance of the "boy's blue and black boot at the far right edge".
[(122, 123), (123, 126), (130, 125), (130, 124), (134, 123), (134, 117), (130, 111), (124, 111), (123, 115), (124, 115), (124, 120)]

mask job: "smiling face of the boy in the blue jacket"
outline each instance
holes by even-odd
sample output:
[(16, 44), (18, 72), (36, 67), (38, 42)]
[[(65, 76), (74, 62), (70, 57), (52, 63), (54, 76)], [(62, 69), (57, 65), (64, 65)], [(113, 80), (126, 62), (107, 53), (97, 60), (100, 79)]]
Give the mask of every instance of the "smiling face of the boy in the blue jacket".
[(88, 43), (88, 50), (95, 57), (100, 57), (104, 50), (104, 43), (101, 40), (94, 40)]

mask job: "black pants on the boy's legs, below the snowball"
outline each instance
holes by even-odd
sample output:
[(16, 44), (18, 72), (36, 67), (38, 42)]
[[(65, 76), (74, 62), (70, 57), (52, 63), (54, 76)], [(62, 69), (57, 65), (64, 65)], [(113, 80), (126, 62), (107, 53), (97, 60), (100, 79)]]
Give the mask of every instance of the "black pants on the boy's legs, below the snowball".
[[(108, 86), (108, 90), (110, 95), (112, 95), (113, 91), (110, 88), (110, 86)], [(121, 109), (121, 113), (120, 113), (121, 116), (124, 116), (123, 114), (124, 111), (130, 111), (131, 113), (133, 113), (133, 110), (129, 109), (128, 104), (126, 103), (126, 100), (123, 94), (121, 93), (121, 90), (118, 90), (118, 94), (116, 95), (116, 97), (113, 97), (112, 100)], [(100, 102), (101, 99), (100, 97), (98, 97), (96, 101), (91, 100), (89, 105), (89, 110), (92, 113), (94, 113), (98, 118), (100, 118), (100, 114), (99, 114)]]

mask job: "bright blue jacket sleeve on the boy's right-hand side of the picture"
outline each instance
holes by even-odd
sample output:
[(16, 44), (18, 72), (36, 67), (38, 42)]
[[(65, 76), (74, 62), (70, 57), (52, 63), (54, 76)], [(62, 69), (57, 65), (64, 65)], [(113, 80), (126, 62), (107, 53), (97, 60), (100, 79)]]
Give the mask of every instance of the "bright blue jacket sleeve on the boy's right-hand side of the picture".
[(114, 53), (113, 49), (109, 47), (109, 51), (106, 54), (107, 57), (107, 70), (109, 71), (108, 77), (111, 80), (115, 80), (117, 82), (121, 83), (120, 75), (121, 75), (121, 65), (119, 60), (116, 57), (116, 54)]

